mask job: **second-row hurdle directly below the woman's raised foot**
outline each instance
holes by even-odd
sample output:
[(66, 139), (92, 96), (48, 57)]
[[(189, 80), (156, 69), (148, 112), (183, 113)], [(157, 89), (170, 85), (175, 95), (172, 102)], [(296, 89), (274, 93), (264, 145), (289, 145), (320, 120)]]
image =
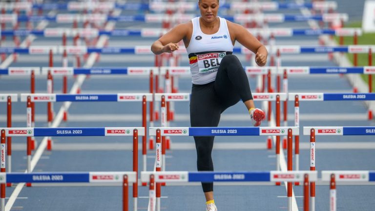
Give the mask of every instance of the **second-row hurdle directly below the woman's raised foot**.
[[(292, 137), (299, 134), (299, 127), (150, 127), (149, 135), (156, 136), (155, 171), (162, 171), (164, 166), (160, 153), (163, 151), (164, 136), (261, 136), (288, 135), (290, 152), (288, 170), (292, 170)], [(280, 157), (276, 155), (276, 170), (280, 170)], [(276, 183), (277, 184), (277, 183)], [(161, 184), (156, 184), (156, 205), (160, 206)], [(159, 198), (159, 199), (158, 199)], [(288, 205), (292, 209), (292, 183), (288, 183)], [(291, 210), (290, 210), (291, 211)]]

